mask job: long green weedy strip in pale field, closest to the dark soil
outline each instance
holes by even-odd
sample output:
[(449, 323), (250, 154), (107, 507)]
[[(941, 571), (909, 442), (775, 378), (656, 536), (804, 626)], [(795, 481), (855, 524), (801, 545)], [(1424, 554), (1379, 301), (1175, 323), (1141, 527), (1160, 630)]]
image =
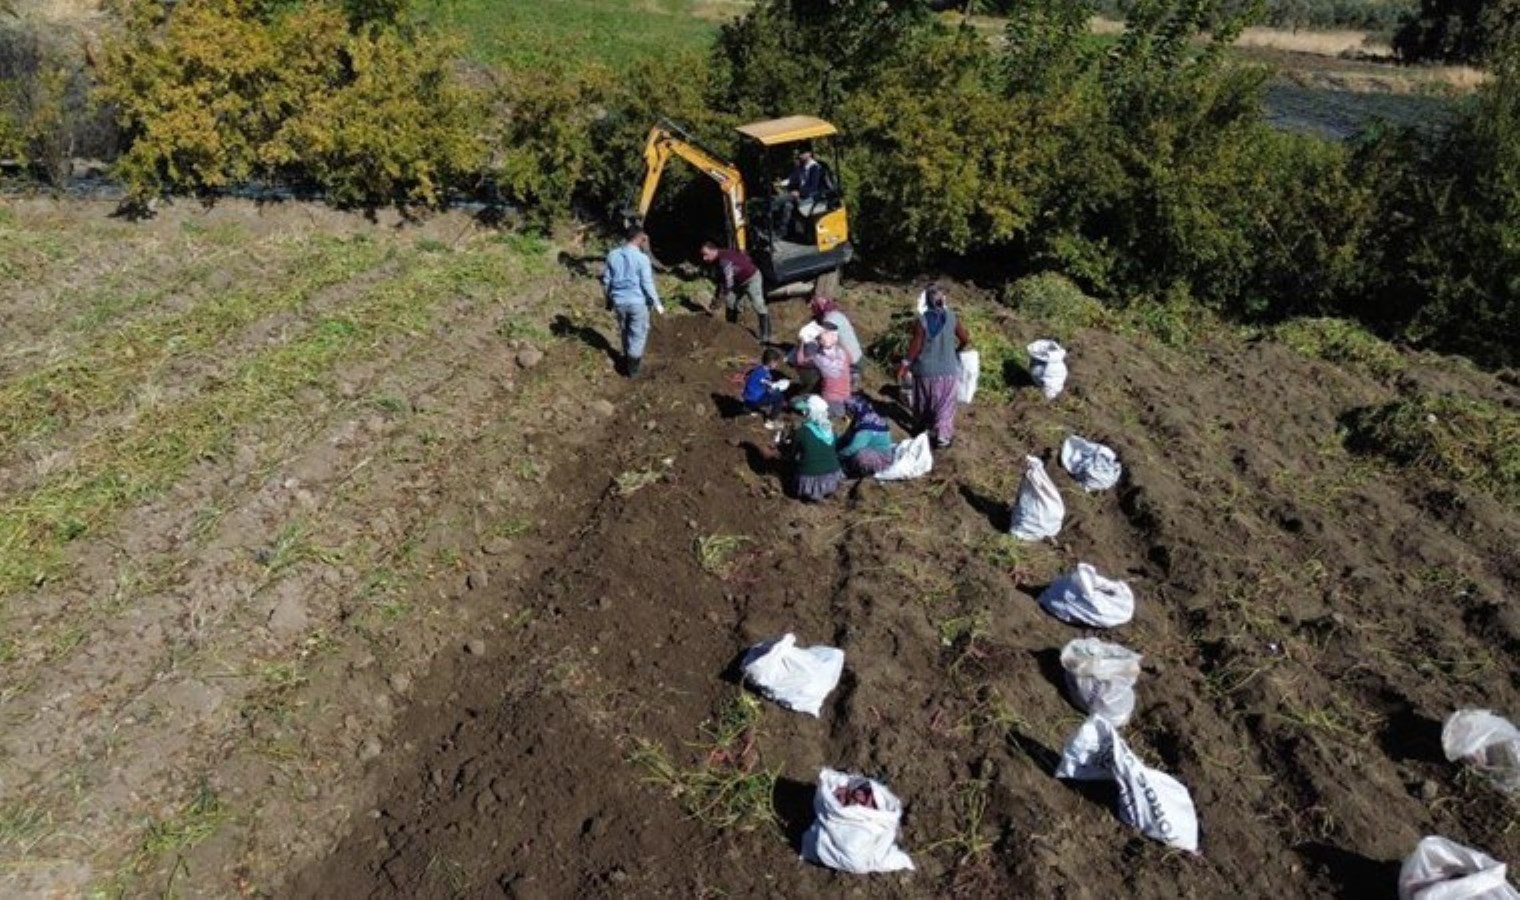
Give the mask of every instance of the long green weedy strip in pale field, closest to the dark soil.
[(70, 540), (97, 534), (198, 461), (228, 455), (239, 430), (309, 412), (301, 394), (336, 391), (330, 372), (337, 365), (421, 333), (468, 286), (505, 286), (518, 275), (512, 257), (488, 251), (415, 254), (410, 263), (304, 334), (243, 359), (193, 398), (93, 435), (65, 470), (0, 503), (0, 596), (67, 572)]

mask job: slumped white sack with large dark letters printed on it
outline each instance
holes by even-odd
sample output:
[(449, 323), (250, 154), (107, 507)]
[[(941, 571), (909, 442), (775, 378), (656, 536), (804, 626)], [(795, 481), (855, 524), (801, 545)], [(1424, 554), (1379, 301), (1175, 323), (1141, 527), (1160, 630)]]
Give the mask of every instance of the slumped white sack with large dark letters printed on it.
[(1091, 716), (1082, 722), (1061, 753), (1055, 777), (1114, 781), (1122, 822), (1167, 847), (1198, 853), (1193, 795), (1172, 775), (1142, 763), (1108, 719)]

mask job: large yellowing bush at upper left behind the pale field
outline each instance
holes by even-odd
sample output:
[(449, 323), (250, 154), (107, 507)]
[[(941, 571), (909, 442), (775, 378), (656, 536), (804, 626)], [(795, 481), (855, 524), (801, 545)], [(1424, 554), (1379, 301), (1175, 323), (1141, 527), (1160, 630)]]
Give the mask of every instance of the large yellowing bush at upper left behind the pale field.
[(339, 202), (436, 204), (480, 160), (479, 117), (448, 49), (398, 5), (131, 0), (100, 91), (131, 147), (137, 199), (251, 178), (312, 184)]

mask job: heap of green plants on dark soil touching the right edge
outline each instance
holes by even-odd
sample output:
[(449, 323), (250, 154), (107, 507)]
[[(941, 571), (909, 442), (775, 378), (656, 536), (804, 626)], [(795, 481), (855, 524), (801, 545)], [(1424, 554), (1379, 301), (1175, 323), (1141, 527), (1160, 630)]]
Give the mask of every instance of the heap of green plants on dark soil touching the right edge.
[(1342, 417), (1353, 453), (1520, 502), (1520, 414), (1474, 397), (1421, 394)]

